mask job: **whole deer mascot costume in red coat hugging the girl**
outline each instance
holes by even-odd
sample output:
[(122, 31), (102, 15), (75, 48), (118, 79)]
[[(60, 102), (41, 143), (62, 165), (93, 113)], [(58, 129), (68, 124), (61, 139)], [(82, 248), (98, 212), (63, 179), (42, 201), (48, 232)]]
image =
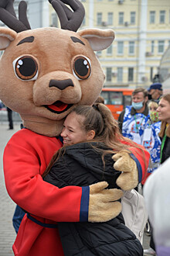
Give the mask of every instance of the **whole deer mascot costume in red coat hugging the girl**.
[[(84, 16), (78, 0), (49, 0), (61, 29), (31, 29), (26, 2), (19, 3), (19, 19), (13, 2), (0, 0), (0, 19), (9, 27), (0, 28), (0, 50), (4, 50), (0, 97), (5, 106), (19, 112), (25, 128), (5, 147), (5, 185), (12, 200), (34, 216), (33, 220), (24, 216), (13, 251), (22, 256), (61, 256), (56, 222), (107, 221), (121, 212), (121, 203), (117, 209), (114, 202), (121, 194), (106, 190), (106, 182), (56, 189), (41, 176), (62, 147), (59, 133), (66, 115), (76, 105), (92, 105), (100, 95), (104, 73), (93, 51), (109, 47), (114, 31), (84, 29), (76, 33)], [(114, 156), (114, 168), (124, 171), (117, 180), (121, 189), (134, 188), (145, 172), (140, 149), (131, 147), (131, 151), (131, 156)], [(145, 157), (148, 161), (147, 152)]]

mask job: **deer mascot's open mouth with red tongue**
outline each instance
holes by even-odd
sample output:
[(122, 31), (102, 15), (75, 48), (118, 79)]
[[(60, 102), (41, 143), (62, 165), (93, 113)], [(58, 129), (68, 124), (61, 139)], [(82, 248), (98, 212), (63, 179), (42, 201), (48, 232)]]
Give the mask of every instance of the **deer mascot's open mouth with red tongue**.
[(56, 101), (52, 105), (45, 105), (46, 109), (56, 114), (65, 112), (70, 109), (71, 106), (73, 106), (73, 104), (66, 104), (60, 101)]

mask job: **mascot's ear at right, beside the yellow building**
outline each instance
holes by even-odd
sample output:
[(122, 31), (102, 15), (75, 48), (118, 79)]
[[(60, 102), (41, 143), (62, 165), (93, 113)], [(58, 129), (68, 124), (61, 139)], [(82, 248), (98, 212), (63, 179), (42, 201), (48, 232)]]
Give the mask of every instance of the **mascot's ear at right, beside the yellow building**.
[(114, 41), (112, 29), (83, 29), (78, 34), (89, 41), (93, 50), (104, 50)]

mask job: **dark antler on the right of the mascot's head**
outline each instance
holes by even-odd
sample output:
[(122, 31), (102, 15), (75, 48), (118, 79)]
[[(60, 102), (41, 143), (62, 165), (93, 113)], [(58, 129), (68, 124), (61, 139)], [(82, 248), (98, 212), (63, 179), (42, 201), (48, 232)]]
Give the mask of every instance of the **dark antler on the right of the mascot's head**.
[[(59, 16), (59, 21), (62, 29), (67, 29), (76, 32), (83, 22), (85, 10), (79, 0), (49, 0), (53, 9)], [(71, 11), (66, 5), (70, 5)]]

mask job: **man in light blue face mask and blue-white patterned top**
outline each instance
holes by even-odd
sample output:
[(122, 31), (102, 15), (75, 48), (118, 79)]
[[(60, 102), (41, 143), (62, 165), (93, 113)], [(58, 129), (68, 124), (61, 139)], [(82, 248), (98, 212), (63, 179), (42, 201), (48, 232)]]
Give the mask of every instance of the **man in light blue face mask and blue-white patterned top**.
[(136, 88), (132, 92), (132, 105), (126, 106), (118, 117), (119, 128), (124, 137), (142, 144), (145, 125), (148, 122), (148, 92), (145, 88)]

